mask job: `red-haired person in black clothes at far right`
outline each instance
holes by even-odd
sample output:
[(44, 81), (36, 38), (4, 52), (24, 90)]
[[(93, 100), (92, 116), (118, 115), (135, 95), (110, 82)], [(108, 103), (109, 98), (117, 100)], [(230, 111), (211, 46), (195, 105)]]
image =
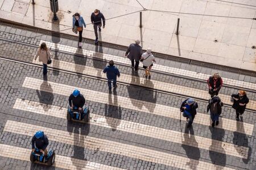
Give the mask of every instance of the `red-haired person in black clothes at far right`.
[(246, 104), (249, 103), (249, 99), (244, 90), (240, 90), (238, 94), (233, 94), (231, 97), (234, 102), (232, 108), (236, 110), (237, 121), (240, 121), (239, 115), (242, 115), (243, 112), (245, 112)]

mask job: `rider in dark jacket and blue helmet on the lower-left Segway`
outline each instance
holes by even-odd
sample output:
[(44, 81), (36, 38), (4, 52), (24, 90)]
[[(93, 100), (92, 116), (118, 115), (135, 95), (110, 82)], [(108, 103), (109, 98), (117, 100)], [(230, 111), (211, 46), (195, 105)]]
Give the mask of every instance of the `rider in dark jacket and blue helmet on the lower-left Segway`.
[(43, 131), (37, 131), (32, 138), (32, 151), (35, 151), (35, 147), (40, 150), (40, 152), (44, 152), (44, 156), (47, 156), (47, 146), (49, 144), (47, 136)]

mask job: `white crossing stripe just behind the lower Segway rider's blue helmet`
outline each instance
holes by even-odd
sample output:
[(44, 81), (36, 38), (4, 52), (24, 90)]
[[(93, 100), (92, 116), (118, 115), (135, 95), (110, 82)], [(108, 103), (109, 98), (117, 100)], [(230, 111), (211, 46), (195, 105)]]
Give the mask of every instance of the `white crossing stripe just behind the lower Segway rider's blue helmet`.
[[(220, 165), (214, 165), (214, 164), (202, 162), (199, 160), (185, 158), (183, 156), (167, 154), (166, 152), (159, 152), (159, 151), (150, 150), (143, 147), (126, 145), (123, 143), (108, 141), (106, 139), (89, 137), (82, 134), (69, 133), (68, 131), (63, 131), (63, 130), (56, 130), (56, 129), (46, 128), (42, 126), (24, 124), (22, 122), (8, 120), (3, 130), (9, 131), (11, 133), (32, 136), (34, 135), (36, 129), (43, 130), (44, 133), (48, 136), (48, 139), (51, 141), (61, 142), (68, 145), (85, 147), (85, 148), (88, 148), (89, 150), (110, 152), (113, 154), (128, 156), (135, 159), (141, 159), (147, 162), (164, 164), (171, 167), (189, 169), (189, 167), (195, 166), (198, 169), (207, 169), (207, 170), (208, 169), (230, 169), (230, 168), (222, 167)], [(80, 139), (83, 139), (83, 140), (80, 140)]]

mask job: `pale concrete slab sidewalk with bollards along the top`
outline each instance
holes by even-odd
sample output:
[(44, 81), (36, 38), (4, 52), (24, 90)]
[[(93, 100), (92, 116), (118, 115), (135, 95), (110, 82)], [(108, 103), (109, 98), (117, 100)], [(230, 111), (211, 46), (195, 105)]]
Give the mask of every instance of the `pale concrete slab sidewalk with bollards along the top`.
[[(102, 41), (128, 46), (141, 39), (143, 49), (256, 71), (256, 49), (251, 48), (256, 46), (256, 20), (143, 11), (139, 28), (139, 12), (110, 19), (143, 10), (141, 5), (152, 10), (256, 18), (256, 1), (139, 0), (139, 5), (136, 0), (62, 0), (59, 22), (52, 22), (48, 0), (35, 0), (34, 6), (31, 2), (0, 0), (0, 18), (73, 35), (72, 15), (80, 12), (88, 24), (83, 36), (94, 39), (90, 14), (98, 8), (109, 19), (100, 35)], [(177, 18), (179, 36), (175, 35)]]

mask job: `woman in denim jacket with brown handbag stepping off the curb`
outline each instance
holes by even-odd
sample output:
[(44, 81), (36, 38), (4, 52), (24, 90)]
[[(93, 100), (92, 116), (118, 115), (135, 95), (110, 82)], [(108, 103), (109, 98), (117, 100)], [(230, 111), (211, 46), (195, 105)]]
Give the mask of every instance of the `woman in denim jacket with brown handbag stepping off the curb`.
[(73, 29), (72, 31), (77, 33), (79, 32), (79, 47), (82, 46), (82, 25), (84, 25), (84, 28), (86, 28), (86, 24), (84, 22), (84, 18), (76, 12), (76, 14), (73, 15)]

